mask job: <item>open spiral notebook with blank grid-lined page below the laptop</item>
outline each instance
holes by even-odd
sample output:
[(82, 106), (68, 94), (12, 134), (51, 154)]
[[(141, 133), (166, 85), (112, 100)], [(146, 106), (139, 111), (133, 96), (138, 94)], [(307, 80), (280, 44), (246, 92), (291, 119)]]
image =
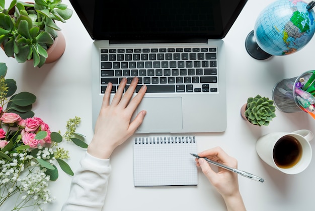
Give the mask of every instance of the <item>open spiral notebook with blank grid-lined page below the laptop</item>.
[(197, 185), (194, 136), (136, 137), (133, 142), (134, 186)]

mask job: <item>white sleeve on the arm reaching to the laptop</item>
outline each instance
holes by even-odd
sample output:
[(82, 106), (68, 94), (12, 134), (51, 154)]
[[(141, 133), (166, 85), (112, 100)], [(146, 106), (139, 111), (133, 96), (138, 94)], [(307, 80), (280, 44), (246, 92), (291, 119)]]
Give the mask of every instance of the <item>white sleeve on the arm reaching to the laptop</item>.
[(102, 210), (111, 173), (110, 160), (98, 159), (88, 152), (81, 160), (81, 168), (74, 174), (70, 193), (62, 211)]

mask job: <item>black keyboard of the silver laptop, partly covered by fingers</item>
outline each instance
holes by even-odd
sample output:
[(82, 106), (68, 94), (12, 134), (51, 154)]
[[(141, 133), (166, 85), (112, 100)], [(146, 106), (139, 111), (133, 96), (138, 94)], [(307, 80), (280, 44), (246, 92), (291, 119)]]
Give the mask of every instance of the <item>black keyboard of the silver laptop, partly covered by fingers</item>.
[(100, 90), (113, 84), (116, 93), (123, 77), (127, 86), (133, 77), (143, 84), (147, 93), (218, 92), (216, 47), (194, 48), (106, 48), (100, 49)]

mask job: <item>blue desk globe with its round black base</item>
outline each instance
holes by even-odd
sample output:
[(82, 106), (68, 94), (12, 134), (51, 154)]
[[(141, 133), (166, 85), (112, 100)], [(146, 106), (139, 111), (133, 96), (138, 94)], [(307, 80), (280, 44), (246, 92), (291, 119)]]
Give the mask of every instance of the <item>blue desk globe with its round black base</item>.
[(315, 32), (314, 6), (315, 2), (302, 0), (278, 0), (267, 6), (246, 38), (249, 55), (265, 60), (303, 48)]

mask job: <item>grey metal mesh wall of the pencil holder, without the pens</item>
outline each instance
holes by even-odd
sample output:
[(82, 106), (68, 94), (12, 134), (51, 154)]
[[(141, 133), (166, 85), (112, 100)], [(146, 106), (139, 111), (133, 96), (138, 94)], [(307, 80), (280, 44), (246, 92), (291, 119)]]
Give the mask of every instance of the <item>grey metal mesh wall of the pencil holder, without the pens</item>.
[(304, 78), (304, 81), (300, 81), (301, 85), (304, 86), (313, 72), (314, 71), (311, 70), (294, 78), (283, 79), (273, 87), (272, 99), (277, 109), (285, 113), (303, 111), (303, 108), (296, 99), (295, 84), (299, 82), (301, 78)]

